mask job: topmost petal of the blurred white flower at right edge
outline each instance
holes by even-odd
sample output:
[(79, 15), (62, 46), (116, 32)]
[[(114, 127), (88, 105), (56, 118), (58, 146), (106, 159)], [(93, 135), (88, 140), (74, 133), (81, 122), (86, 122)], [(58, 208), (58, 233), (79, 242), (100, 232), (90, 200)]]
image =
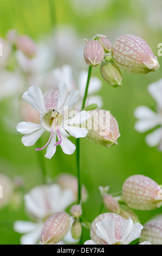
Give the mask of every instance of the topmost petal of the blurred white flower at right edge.
[(158, 106), (162, 108), (162, 79), (157, 82), (151, 83), (150, 86), (148, 86), (148, 92), (155, 99), (155, 101), (157, 101)]

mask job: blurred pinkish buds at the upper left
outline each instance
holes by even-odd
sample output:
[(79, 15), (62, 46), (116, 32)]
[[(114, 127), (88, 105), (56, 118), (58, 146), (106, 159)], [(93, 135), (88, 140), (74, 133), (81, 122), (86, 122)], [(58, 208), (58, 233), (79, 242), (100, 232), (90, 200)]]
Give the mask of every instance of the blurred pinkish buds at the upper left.
[(7, 38), (11, 45), (14, 45), (17, 50), (23, 52), (28, 58), (33, 58), (36, 55), (36, 44), (29, 36), (19, 35), (15, 30), (11, 29), (7, 34)]

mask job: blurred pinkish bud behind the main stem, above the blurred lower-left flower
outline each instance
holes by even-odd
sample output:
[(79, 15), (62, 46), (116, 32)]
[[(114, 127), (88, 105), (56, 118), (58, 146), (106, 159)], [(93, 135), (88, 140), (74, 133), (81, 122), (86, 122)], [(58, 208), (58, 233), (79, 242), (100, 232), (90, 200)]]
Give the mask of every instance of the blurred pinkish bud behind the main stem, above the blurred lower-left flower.
[[(70, 174), (60, 174), (57, 178), (57, 184), (59, 184), (62, 188), (70, 188), (75, 195), (75, 198), (77, 200), (77, 179), (75, 176)], [(88, 198), (88, 192), (86, 190), (85, 185), (82, 185), (82, 202), (86, 202)]]

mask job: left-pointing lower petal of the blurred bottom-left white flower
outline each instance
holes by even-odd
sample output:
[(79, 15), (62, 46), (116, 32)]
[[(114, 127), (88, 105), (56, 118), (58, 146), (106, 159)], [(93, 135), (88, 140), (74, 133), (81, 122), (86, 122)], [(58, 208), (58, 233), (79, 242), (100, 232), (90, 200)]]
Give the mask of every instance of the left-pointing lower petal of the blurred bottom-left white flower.
[(21, 234), (33, 231), (36, 227), (37, 223), (30, 221), (16, 221), (14, 223), (14, 230)]

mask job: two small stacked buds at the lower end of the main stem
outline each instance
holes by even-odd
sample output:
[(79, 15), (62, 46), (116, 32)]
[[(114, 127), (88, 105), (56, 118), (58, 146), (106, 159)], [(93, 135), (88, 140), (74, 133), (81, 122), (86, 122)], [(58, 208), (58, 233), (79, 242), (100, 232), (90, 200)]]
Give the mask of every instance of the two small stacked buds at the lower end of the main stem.
[(74, 222), (72, 225), (72, 237), (77, 240), (80, 239), (82, 234), (82, 225), (80, 222), (80, 217), (82, 215), (82, 208), (80, 204), (75, 204), (70, 209), (70, 214), (74, 218)]

